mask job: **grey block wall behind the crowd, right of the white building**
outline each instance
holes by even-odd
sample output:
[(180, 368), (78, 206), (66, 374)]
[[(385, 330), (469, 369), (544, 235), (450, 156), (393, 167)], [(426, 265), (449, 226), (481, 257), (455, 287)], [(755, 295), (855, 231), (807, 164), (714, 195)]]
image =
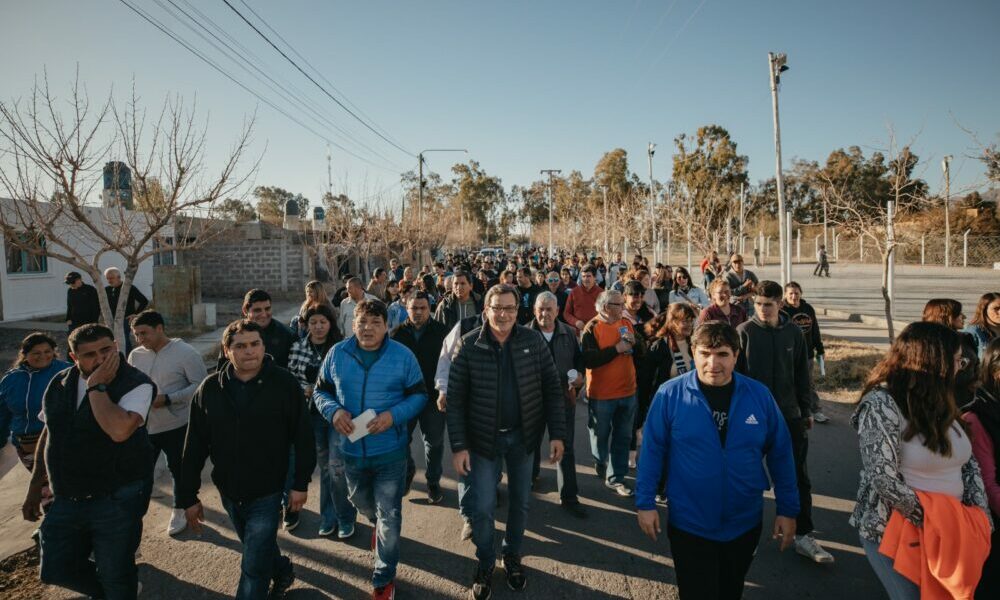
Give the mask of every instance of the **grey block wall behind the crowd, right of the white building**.
[(276, 298), (298, 299), (309, 280), (305, 248), (298, 236), (259, 223), (239, 226), (178, 257), (201, 267), (202, 295), (239, 298), (251, 288)]

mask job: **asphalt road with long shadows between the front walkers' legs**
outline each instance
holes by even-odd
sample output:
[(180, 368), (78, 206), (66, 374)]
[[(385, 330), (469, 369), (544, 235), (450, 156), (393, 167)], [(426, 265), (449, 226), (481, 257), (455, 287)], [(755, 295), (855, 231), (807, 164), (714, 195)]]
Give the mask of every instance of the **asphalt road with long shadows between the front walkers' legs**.
[[(810, 469), (815, 490), (817, 537), (837, 559), (833, 566), (807, 562), (793, 551), (779, 553), (766, 540), (749, 574), (748, 599), (816, 598), (842, 600), (879, 598), (880, 588), (847, 525), (857, 485), (858, 455), (854, 432), (847, 426), (849, 407), (829, 405), (833, 422), (814, 432)], [(628, 500), (612, 495), (594, 476), (587, 451), (585, 411), (578, 410), (576, 451), (580, 465), (582, 500), (590, 512), (576, 520), (558, 507), (555, 471), (545, 468), (540, 492), (532, 499), (525, 565), (528, 593), (509, 592), (496, 574), (497, 598), (675, 598), (676, 588), (669, 543), (646, 540), (640, 533)], [(446, 455), (446, 464), (450, 457)], [(203, 489), (208, 523), (201, 538), (188, 532), (171, 539), (164, 532), (170, 500), (169, 476), (159, 466), (157, 488), (140, 557), (143, 598), (224, 598), (235, 591), (239, 573), (239, 546), (210, 485)], [(414, 491), (403, 501), (402, 564), (399, 598), (464, 598), (475, 566), (473, 548), (458, 539), (454, 473), (446, 468), (446, 501), (429, 506), (424, 500), (422, 471)], [(315, 481), (314, 477), (314, 481)], [(204, 480), (209, 481), (206, 471)], [(506, 504), (504, 505), (504, 507)], [(503, 509), (505, 510), (505, 508)], [(773, 504), (768, 501), (766, 527)], [(502, 529), (505, 513), (497, 519)], [(347, 543), (319, 538), (317, 495), (310, 494), (302, 524), (280, 533), (279, 544), (291, 554), (298, 582), (290, 598), (367, 598), (372, 566), (368, 551), (369, 526), (361, 521)], [(52, 591), (52, 598), (69, 598)]]

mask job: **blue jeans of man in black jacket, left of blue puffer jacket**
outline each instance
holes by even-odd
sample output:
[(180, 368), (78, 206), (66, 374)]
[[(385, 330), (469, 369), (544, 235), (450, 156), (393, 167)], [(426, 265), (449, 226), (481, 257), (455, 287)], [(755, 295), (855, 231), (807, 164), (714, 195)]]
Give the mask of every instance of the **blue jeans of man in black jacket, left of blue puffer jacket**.
[(278, 550), (278, 524), (281, 521), (281, 494), (236, 501), (222, 496), (222, 506), (233, 522), (233, 529), (243, 543), (240, 562), (240, 585), (237, 600), (267, 598), (271, 579), (292, 568), (292, 561)]

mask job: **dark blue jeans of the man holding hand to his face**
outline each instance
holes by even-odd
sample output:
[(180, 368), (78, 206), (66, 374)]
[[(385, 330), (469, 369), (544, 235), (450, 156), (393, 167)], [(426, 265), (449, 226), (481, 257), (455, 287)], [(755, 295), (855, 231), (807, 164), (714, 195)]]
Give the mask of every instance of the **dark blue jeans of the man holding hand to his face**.
[(42, 521), (41, 580), (84, 596), (134, 599), (148, 490), (140, 480), (89, 500), (56, 496)]

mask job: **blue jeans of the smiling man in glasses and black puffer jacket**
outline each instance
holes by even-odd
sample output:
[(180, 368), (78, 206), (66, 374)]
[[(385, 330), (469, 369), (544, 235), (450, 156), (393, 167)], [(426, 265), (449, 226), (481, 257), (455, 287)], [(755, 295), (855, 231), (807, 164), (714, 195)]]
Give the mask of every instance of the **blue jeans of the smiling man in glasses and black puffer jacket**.
[(531, 499), (532, 452), (524, 445), (520, 429), (497, 435), (496, 456), (487, 458), (470, 452), (472, 472), (469, 485), (473, 490), (472, 542), (476, 545), (476, 558), (482, 566), (496, 562), (493, 544), (494, 512), (497, 504), (497, 485), (502, 464), (507, 463), (507, 527), (503, 537), (503, 554), (521, 554), (524, 527), (528, 520), (528, 501)]

